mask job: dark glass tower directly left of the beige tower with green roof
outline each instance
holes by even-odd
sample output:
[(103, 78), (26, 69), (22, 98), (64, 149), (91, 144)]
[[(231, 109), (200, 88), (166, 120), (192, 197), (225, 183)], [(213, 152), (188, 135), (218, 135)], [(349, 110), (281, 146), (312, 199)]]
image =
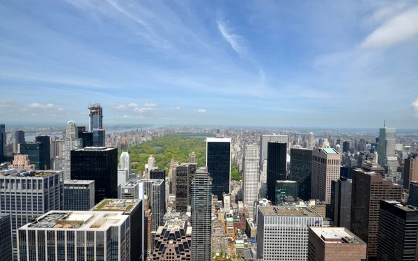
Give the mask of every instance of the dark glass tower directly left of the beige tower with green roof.
[(291, 149), (289, 180), (297, 181), (297, 196), (302, 200), (311, 198), (312, 150)]

